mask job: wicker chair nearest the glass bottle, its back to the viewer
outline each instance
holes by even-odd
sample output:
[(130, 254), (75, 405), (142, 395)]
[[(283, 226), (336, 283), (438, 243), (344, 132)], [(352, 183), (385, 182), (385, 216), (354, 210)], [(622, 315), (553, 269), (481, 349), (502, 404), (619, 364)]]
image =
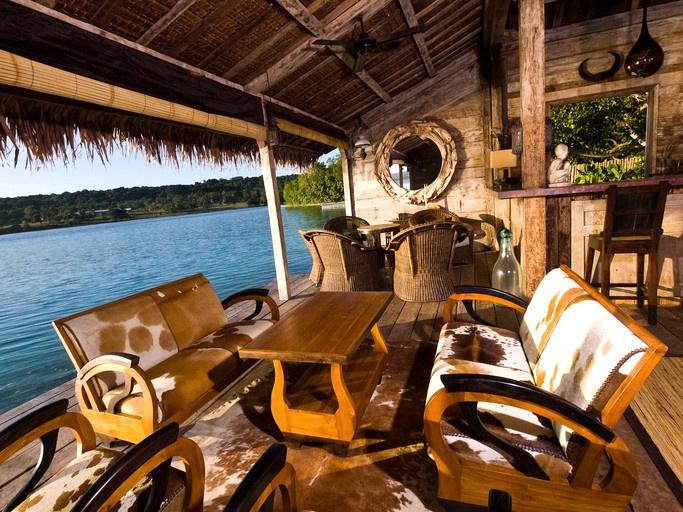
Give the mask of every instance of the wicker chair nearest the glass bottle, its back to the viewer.
[(395, 252), (394, 293), (409, 302), (446, 300), (453, 293), (455, 244), (466, 235), (456, 221), (421, 224), (395, 235), (389, 244)]

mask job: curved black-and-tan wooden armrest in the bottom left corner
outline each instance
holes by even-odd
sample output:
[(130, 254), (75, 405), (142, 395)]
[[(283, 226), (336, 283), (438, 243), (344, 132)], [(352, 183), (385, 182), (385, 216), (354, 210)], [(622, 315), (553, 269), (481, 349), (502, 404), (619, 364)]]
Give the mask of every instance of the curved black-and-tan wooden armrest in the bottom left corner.
[(42, 480), (57, 451), (59, 429), (68, 428), (73, 432), (77, 456), (95, 448), (97, 441), (92, 426), (83, 415), (67, 412), (68, 406), (67, 399), (58, 400), (31, 411), (0, 431), (0, 464), (36, 440), (41, 445), (33, 473), (5, 510), (16, 508)]

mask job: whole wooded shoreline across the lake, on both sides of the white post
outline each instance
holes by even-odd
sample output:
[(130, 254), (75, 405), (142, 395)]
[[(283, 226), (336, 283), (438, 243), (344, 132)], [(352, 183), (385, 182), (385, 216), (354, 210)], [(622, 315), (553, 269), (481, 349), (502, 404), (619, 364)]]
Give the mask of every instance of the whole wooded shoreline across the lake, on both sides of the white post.
[[(341, 160), (277, 177), (280, 201), (320, 204), (344, 199)], [(194, 185), (81, 190), (0, 198), (0, 234), (266, 204), (262, 177), (210, 179)]]

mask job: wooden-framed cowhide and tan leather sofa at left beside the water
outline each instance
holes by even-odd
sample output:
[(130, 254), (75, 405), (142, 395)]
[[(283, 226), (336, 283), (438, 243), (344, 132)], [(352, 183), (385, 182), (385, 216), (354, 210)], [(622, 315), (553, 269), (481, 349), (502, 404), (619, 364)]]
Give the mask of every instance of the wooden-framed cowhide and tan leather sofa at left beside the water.
[[(227, 310), (256, 301), (248, 319)], [(270, 319), (252, 319), (263, 304)], [(237, 309), (237, 308), (235, 308)], [(96, 432), (138, 442), (182, 424), (254, 361), (238, 351), (279, 319), (267, 290), (218, 298), (202, 274), (53, 322), (77, 370), (76, 398)]]

